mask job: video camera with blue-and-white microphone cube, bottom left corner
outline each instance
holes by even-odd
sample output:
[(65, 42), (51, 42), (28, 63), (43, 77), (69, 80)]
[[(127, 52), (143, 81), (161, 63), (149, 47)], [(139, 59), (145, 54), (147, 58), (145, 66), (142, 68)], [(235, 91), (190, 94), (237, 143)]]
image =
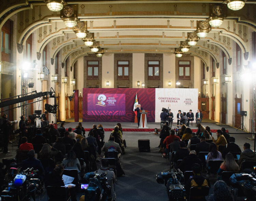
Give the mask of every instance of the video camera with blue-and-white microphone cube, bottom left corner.
[(40, 192), (41, 182), (38, 176), (38, 170), (26, 169), (18, 174), (9, 175), (12, 181), (1, 192), (1, 201), (16, 201), (32, 198), (35, 200), (35, 192)]

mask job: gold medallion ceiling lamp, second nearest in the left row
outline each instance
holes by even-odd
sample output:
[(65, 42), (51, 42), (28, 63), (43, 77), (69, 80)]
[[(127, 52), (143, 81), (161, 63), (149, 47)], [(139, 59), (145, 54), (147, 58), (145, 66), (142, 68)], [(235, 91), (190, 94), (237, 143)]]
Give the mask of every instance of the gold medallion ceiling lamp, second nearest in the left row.
[(62, 19), (66, 27), (74, 27), (79, 19), (77, 18), (77, 4), (65, 5), (60, 11), (60, 19)]

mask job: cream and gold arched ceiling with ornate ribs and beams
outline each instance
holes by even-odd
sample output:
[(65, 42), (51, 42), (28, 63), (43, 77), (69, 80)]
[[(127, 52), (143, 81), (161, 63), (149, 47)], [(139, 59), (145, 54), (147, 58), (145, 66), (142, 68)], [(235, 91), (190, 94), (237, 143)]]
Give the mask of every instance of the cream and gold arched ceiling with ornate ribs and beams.
[[(5, 4), (1, 2), (6, 2)], [(44, 1), (3, 0), (0, 2), (0, 28), (12, 15), (17, 15), (17, 43), (24, 46), (31, 33), (35, 34), (38, 54), (51, 43), (51, 58), (61, 50), (62, 62), (90, 52), (60, 19), (60, 12), (49, 11)], [(104, 52), (159, 52), (174, 53), (174, 48), (187, 39), (187, 32), (196, 30), (196, 21), (209, 17), (209, 3), (223, 1), (69, 1), (78, 4), (77, 16), (87, 21)], [(238, 43), (243, 53), (249, 52), (248, 34), (256, 31), (256, 1), (248, 0), (243, 9), (231, 11), (220, 27), (213, 28), (206, 38), (190, 48), (189, 53), (209, 64), (205, 54), (216, 63), (219, 49), (232, 58), (232, 42)], [(249, 29), (250, 28), (250, 29)], [(202, 55), (203, 53), (203, 55)], [(40, 58), (40, 57), (38, 57)]]

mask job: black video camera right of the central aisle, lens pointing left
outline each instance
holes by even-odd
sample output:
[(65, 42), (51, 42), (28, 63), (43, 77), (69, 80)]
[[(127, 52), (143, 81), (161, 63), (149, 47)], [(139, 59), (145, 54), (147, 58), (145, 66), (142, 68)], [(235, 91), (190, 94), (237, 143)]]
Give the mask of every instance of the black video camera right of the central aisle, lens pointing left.
[(183, 180), (184, 176), (180, 169), (178, 172), (160, 172), (156, 175), (157, 183), (165, 184), (169, 201), (185, 200), (185, 188), (180, 183), (181, 179)]

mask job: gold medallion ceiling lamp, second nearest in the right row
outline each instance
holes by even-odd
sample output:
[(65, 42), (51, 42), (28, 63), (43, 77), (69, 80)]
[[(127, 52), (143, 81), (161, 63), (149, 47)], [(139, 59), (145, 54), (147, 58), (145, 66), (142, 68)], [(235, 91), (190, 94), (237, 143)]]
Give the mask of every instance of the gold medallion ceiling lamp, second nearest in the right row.
[(212, 27), (219, 27), (227, 17), (227, 5), (210, 3), (210, 17), (207, 19)]

